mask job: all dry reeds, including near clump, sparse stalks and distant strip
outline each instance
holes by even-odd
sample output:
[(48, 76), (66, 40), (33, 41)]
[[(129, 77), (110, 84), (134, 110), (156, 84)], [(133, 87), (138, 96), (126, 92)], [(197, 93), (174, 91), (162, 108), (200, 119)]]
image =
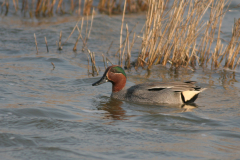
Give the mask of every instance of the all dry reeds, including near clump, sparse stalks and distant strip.
[[(21, 11), (29, 12), (30, 17), (33, 14), (35, 16), (52, 16), (54, 12), (66, 13), (66, 9), (64, 9), (66, 1), (30, 1), (21, 1)], [(7, 3), (8, 1), (5, 1), (1, 5), (1, 13), (5, 11), (5, 15), (9, 10), (9, 4)], [(19, 0), (13, 0), (13, 4), (15, 11), (18, 12)], [(88, 60), (88, 63), (91, 61), (91, 74), (93, 76), (95, 74), (98, 75), (95, 54), (87, 48), (95, 9), (97, 9), (98, 12), (108, 15), (123, 15), (120, 45), (115, 57), (118, 59), (118, 64), (126, 69), (131, 67), (135, 69), (138, 67), (150, 69), (153, 65), (160, 64), (166, 66), (170, 64), (173, 68), (186, 67), (192, 70), (198, 66), (210, 66), (211, 69), (223, 67), (235, 70), (240, 63), (240, 19), (235, 19), (234, 21), (230, 41), (226, 41), (221, 37), (223, 18), (229, 10), (229, 5), (230, 0), (99, 0), (97, 6), (94, 7), (93, 0), (71, 0), (68, 1), (68, 13), (86, 16), (79, 19), (82, 22), (81, 27), (78, 26), (78, 21), (67, 40), (77, 29), (79, 36), (73, 51), (76, 51), (78, 41), (81, 39), (83, 42), (82, 51), (86, 50), (89, 53), (90, 60)], [(128, 25), (124, 23), (124, 16), (125, 13), (142, 11), (146, 11), (146, 22), (143, 26), (142, 35), (136, 35), (134, 33), (135, 27), (130, 31)], [(83, 37), (81, 32), (83, 30), (84, 17), (87, 17), (88, 20), (89, 16), (91, 16), (91, 24), (88, 24), (87, 21), (86, 36)], [(203, 17), (205, 19), (208, 17), (208, 20), (204, 21)], [(124, 30), (126, 32), (125, 39), (122, 36)], [(61, 44), (61, 32), (58, 42), (59, 50), (62, 49), (67, 41)], [(136, 60), (131, 61), (131, 50), (136, 38), (139, 37), (142, 41), (141, 46), (139, 46), (139, 55)], [(130, 39), (132, 40), (130, 41)], [(47, 41), (46, 38), (45, 41)], [(106, 67), (110, 60), (104, 54), (102, 54), (102, 58)]]

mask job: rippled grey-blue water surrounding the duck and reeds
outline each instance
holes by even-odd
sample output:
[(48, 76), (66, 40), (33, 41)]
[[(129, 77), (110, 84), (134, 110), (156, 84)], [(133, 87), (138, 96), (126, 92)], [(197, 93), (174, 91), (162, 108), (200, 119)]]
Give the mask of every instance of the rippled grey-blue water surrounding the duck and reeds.
[[(239, 11), (234, 9), (225, 16), (225, 38)], [(144, 17), (128, 15), (126, 21), (130, 28), (139, 22), (136, 32), (140, 32)], [(119, 45), (121, 16), (97, 15), (94, 19), (88, 48), (96, 53), (101, 69), (98, 77), (88, 74), (88, 54), (81, 52), (81, 42), (78, 51), (72, 52), (76, 32), (62, 51), (57, 50), (59, 32), (63, 31), (64, 42), (77, 20), (68, 16), (30, 20), (14, 15), (1, 17), (1, 159), (240, 158), (239, 68), (175, 72), (155, 66), (150, 72), (127, 72), (128, 86), (146, 81), (198, 81), (208, 89), (200, 94), (196, 106), (150, 106), (113, 100), (109, 98), (110, 83), (97, 87), (91, 84), (104, 72), (102, 53), (106, 55), (112, 41), (108, 57), (117, 63), (113, 57)]]

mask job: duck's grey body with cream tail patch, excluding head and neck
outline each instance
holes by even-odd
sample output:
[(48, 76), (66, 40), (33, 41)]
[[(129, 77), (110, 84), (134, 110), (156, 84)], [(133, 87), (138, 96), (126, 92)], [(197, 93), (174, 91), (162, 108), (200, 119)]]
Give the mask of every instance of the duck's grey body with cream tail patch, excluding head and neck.
[(139, 103), (191, 103), (205, 88), (196, 87), (194, 81), (188, 82), (149, 82), (132, 86), (120, 92), (112, 93), (112, 97)]

